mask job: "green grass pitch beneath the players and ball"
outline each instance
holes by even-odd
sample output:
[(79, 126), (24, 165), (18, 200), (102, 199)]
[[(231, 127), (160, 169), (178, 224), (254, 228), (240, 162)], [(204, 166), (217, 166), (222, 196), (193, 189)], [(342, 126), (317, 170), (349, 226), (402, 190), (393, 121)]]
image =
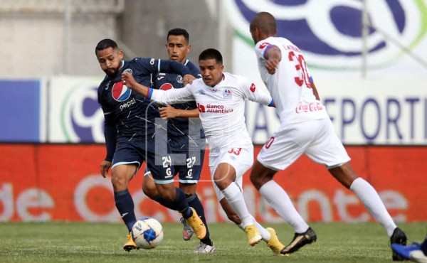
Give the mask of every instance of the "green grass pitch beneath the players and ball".
[[(287, 244), (289, 225), (268, 225)], [(0, 262), (391, 262), (389, 239), (376, 223), (312, 223), (317, 242), (289, 257), (275, 256), (264, 242), (247, 244), (235, 225), (211, 224), (215, 254), (193, 254), (198, 240), (184, 242), (181, 225), (163, 223), (162, 245), (125, 252), (126, 229), (120, 223), (0, 223)], [(420, 242), (427, 223), (399, 224), (410, 241)]]

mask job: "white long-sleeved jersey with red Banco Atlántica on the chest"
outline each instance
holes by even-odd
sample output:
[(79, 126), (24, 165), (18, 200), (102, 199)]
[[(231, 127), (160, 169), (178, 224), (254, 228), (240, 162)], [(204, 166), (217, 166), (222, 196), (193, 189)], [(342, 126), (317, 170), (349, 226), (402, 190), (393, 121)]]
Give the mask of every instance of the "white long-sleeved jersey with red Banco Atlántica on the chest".
[(223, 73), (221, 82), (214, 87), (197, 79), (181, 89), (150, 90), (149, 98), (163, 104), (196, 101), (211, 154), (225, 147), (252, 144), (245, 123), (246, 99), (265, 105), (272, 102), (270, 95), (260, 92), (246, 77), (231, 73)]

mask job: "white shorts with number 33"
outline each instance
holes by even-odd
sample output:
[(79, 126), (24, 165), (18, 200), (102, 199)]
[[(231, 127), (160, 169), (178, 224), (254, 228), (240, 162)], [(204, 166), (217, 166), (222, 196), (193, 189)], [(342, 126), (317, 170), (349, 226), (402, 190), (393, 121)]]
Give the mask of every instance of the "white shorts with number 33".
[[(231, 151), (232, 150), (232, 151)], [(223, 149), (220, 153), (209, 154), (209, 169), (211, 170), (211, 181), (214, 185), (216, 198), (221, 201), (225, 196), (214, 181), (214, 173), (219, 163), (229, 163), (236, 170), (236, 183), (243, 191), (243, 174), (248, 171), (253, 164), (253, 145), (245, 148)]]

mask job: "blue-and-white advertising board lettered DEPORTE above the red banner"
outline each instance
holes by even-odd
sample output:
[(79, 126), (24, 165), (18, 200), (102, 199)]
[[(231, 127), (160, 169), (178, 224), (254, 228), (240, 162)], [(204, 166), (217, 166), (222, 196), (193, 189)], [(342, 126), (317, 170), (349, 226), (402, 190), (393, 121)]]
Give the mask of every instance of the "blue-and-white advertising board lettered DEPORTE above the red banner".
[[(9, 100), (0, 104), (0, 142), (103, 143), (97, 103), (101, 77), (0, 80)], [(316, 80), (339, 139), (347, 145), (427, 145), (425, 79)], [(263, 89), (263, 83), (257, 82)], [(11, 110), (14, 109), (14, 110)], [(279, 127), (275, 109), (247, 102), (246, 124), (254, 144)]]

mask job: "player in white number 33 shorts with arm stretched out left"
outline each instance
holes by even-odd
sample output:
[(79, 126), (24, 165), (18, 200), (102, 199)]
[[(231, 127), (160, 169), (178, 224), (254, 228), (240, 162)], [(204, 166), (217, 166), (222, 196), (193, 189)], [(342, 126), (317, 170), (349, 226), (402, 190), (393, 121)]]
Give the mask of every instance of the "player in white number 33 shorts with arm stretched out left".
[(238, 215), (239, 227), (246, 232), (250, 245), (264, 240), (275, 254), (280, 254), (285, 246), (273, 228), (265, 229), (256, 222), (242, 193), (242, 176), (253, 164), (253, 144), (244, 117), (245, 100), (269, 106), (273, 106), (273, 100), (245, 77), (223, 73), (218, 50), (204, 50), (199, 55), (199, 68), (202, 78), (181, 89), (153, 90), (137, 83), (128, 73), (122, 75), (122, 80), (127, 87), (162, 104), (196, 101), (209, 141), (209, 168), (221, 206), (226, 213)]

